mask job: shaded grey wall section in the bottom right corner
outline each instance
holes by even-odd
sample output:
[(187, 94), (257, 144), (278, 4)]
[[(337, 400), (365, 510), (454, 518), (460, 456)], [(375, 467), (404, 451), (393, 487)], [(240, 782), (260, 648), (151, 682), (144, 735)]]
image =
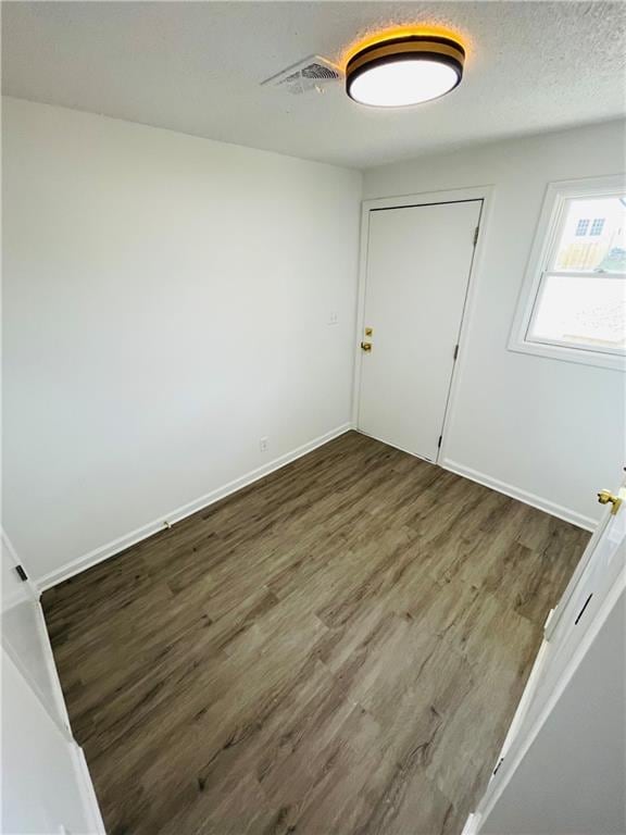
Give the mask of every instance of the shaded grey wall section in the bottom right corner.
[(625, 610), (623, 593), (480, 835), (626, 832)]

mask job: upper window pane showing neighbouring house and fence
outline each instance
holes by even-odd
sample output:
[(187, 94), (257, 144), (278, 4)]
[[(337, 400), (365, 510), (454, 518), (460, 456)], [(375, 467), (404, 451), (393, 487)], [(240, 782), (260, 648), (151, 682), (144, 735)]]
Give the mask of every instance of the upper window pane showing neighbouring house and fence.
[(626, 197), (566, 200), (552, 270), (626, 273)]

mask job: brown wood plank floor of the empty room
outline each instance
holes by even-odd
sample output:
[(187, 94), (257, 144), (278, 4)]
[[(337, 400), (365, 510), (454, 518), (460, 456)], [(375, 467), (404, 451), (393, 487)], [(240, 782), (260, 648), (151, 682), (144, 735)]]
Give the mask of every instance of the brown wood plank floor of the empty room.
[(460, 833), (588, 534), (349, 433), (43, 596), (109, 833)]

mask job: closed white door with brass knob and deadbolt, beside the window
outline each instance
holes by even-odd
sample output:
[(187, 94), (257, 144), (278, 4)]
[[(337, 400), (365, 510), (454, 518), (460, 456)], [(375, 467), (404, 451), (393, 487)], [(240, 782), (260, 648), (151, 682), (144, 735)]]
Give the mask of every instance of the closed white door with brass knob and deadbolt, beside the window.
[(359, 428), (428, 461), (437, 459), (481, 207), (370, 212)]

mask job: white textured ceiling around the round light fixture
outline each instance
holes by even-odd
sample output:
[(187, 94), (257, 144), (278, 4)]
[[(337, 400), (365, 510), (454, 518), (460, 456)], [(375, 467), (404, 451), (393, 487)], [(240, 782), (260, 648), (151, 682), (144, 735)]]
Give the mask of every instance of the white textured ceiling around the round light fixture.
[[(623, 3), (4, 2), (3, 91), (356, 167), (624, 114)], [(342, 84), (260, 87), (355, 37), (438, 24), (468, 46), (439, 101), (376, 111)]]

